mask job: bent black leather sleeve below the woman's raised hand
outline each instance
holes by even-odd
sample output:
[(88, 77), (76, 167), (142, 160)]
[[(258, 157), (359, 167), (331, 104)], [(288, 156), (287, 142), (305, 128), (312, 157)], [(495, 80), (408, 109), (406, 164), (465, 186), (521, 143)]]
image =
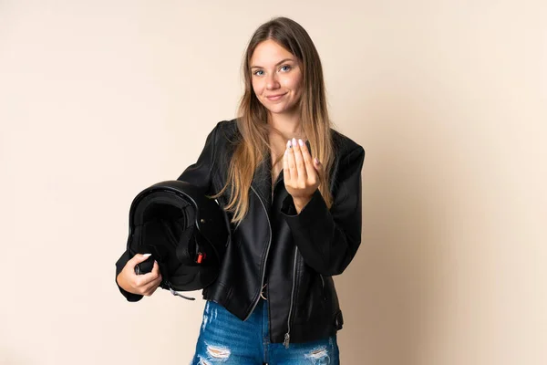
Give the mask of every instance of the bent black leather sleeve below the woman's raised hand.
[(319, 190), (296, 214), (292, 196), (282, 213), (304, 262), (325, 276), (342, 274), (361, 244), (361, 170), (365, 150), (358, 146), (342, 158), (329, 210)]

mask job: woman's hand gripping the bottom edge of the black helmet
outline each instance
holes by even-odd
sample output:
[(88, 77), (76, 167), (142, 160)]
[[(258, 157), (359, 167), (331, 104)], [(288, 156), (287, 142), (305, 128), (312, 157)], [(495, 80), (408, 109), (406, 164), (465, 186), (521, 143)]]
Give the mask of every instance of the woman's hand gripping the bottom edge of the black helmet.
[(152, 271), (147, 274), (135, 274), (135, 266), (145, 261), (150, 255), (134, 255), (117, 277), (118, 285), (125, 291), (141, 296), (150, 297), (161, 283), (160, 266), (154, 261)]

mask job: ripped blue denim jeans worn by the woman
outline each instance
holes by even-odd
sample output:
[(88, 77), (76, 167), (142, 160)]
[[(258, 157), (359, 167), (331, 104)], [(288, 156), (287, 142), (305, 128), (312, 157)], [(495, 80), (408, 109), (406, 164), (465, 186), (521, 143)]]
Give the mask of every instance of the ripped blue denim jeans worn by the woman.
[(263, 299), (242, 321), (221, 305), (208, 301), (193, 365), (339, 365), (336, 337), (306, 343), (271, 343), (268, 304)]

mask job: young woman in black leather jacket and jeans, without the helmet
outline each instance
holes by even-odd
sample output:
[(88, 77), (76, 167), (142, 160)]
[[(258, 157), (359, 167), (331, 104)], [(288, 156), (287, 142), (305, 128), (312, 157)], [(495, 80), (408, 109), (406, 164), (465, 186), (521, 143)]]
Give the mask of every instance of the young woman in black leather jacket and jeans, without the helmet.
[[(339, 363), (342, 328), (332, 276), (361, 242), (365, 151), (331, 129), (323, 70), (304, 28), (260, 26), (243, 63), (239, 118), (218, 123), (179, 180), (205, 187), (232, 221), (207, 300), (193, 364)], [(117, 282), (131, 301), (160, 284), (158, 265), (122, 255)]]

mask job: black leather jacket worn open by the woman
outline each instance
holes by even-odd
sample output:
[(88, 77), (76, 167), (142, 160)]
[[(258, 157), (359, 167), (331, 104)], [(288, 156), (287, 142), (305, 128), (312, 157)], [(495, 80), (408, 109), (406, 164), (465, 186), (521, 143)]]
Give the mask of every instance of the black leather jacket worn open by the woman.
[[(209, 134), (198, 161), (178, 180), (221, 191), (239, 131), (235, 120), (222, 121)], [(238, 318), (248, 318), (264, 292), (270, 308), (272, 342), (326, 339), (342, 328), (342, 312), (332, 276), (341, 274), (361, 243), (361, 169), (365, 151), (332, 131), (335, 163), (329, 210), (317, 191), (300, 214), (283, 183), (283, 172), (272, 189), (271, 158), (253, 176), (249, 211), (232, 226), (231, 242), (218, 279), (203, 289)], [(313, 149), (313, 146), (312, 146)], [(228, 197), (221, 197), (222, 203)], [(124, 253), (117, 275), (128, 261)], [(129, 301), (142, 296), (121, 289)]]

